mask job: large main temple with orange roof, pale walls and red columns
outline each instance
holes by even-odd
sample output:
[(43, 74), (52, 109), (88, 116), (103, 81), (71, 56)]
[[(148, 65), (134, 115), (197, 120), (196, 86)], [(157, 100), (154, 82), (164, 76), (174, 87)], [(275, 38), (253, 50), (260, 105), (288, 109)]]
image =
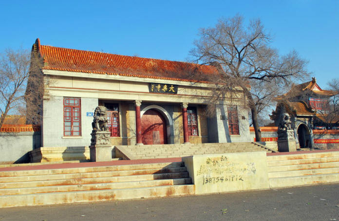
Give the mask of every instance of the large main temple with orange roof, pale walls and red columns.
[(215, 86), (194, 74), (216, 74), (214, 66), (46, 46), (39, 39), (32, 52), (42, 58), (42, 147), (89, 146), (97, 106), (108, 109), (113, 146), (250, 141), (241, 100), (220, 100), (213, 115), (205, 114)]

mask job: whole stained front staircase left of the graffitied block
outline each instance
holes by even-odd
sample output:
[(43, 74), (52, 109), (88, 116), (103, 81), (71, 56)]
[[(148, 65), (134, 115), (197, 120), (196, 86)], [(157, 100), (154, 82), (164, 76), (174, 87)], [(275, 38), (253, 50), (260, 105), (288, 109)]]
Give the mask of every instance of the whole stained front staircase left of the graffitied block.
[(191, 194), (183, 162), (0, 172), (0, 207)]

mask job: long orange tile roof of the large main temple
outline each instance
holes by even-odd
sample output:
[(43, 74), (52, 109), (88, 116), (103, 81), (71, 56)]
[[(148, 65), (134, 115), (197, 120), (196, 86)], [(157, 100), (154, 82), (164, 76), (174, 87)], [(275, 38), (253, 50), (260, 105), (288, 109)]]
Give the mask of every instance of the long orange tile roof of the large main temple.
[[(44, 58), (45, 70), (111, 74), (121, 76), (157, 78), (197, 82), (193, 73), (216, 74), (211, 65), (159, 60), (152, 58), (113, 55), (67, 48), (40, 45), (37, 39), (33, 48)], [(207, 82), (204, 79), (200, 82)]]

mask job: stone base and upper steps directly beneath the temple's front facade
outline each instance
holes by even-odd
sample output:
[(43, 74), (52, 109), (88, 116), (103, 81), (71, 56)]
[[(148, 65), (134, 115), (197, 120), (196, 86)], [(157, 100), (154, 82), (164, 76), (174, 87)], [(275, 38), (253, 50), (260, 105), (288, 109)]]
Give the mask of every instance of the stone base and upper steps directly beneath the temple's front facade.
[[(194, 154), (215, 154), (226, 152), (250, 152), (266, 151), (275, 152), (274, 149), (265, 147), (255, 142), (243, 143), (206, 143), (206, 144), (164, 144), (164, 145), (131, 145), (108, 147), (111, 149), (110, 158), (124, 160), (175, 158)], [(62, 162), (78, 160), (80, 162), (90, 161), (89, 147), (40, 147), (29, 152), (31, 163), (40, 162)], [(93, 149), (93, 148), (92, 148)], [(93, 151), (92, 151), (93, 152)], [(107, 155), (107, 153), (105, 153)]]

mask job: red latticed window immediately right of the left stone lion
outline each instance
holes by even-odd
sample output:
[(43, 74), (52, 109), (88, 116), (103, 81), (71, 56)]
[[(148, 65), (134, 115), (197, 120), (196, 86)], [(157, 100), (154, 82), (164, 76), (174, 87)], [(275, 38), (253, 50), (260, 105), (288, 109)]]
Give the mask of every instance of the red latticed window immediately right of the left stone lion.
[(107, 126), (111, 132), (111, 137), (119, 137), (119, 105), (118, 104), (105, 104), (107, 108)]

